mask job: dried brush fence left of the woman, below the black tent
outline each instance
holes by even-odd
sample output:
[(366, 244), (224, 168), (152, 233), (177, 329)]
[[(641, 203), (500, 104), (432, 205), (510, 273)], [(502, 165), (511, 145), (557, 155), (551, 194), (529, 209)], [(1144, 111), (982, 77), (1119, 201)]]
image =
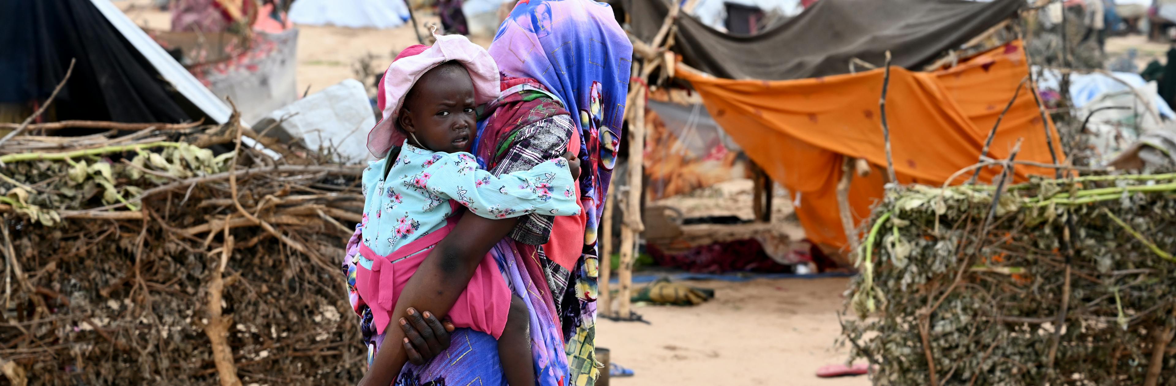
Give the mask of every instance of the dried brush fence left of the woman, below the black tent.
[[(339, 261), (360, 220), (361, 167), (235, 119), (118, 133), (0, 146), (0, 379), (359, 380), (365, 354)], [(242, 148), (242, 134), (283, 157)]]

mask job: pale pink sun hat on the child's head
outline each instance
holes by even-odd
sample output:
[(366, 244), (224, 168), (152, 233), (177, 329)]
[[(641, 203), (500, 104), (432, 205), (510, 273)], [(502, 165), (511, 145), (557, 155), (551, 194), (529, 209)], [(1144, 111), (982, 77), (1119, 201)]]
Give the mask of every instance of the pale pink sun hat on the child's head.
[(474, 81), (475, 104), (482, 105), (499, 98), (499, 66), (486, 48), (462, 35), (433, 36), (436, 38), (433, 46), (415, 45), (401, 51), (380, 79), (376, 107), (383, 118), (368, 132), (368, 151), (375, 158), (383, 158), (393, 146), (405, 141), (405, 134), (396, 128), (396, 115), (405, 104), (405, 94), (408, 94), (421, 75), (442, 62), (456, 60), (466, 66)]

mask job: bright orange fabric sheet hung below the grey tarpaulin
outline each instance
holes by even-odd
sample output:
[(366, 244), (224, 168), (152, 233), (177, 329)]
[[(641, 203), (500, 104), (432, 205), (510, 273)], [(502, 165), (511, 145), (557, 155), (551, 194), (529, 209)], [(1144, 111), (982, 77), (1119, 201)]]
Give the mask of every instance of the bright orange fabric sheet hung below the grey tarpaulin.
[[(794, 194), (809, 239), (844, 247), (836, 199), (842, 157), (877, 166), (875, 173), (855, 177), (850, 185), (855, 224), (861, 225), (883, 193), (887, 161), (878, 120), (883, 69), (783, 81), (720, 79), (684, 66), (676, 73), (694, 85), (715, 120), (748, 157)], [(988, 132), (1028, 74), (1021, 41), (940, 72), (891, 67), (887, 121), (898, 181), (940, 185), (976, 164)], [(1042, 125), (1029, 92), (1027, 82), (1001, 121), (989, 157), (1008, 158), (1023, 138), (1017, 160), (1050, 162), (1048, 127), (1063, 161), (1053, 122)], [(980, 179), (990, 182), (998, 172), (984, 168)], [(1018, 166), (1015, 180), (1030, 174), (1053, 175), (1053, 171)]]

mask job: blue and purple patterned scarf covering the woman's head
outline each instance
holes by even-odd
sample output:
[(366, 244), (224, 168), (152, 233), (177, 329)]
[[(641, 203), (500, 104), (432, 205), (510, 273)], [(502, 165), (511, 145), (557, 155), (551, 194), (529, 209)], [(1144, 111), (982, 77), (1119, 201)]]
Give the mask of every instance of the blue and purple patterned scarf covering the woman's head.
[(582, 194), (596, 221), (616, 164), (633, 45), (608, 5), (590, 0), (527, 0), (499, 27), (490, 56), (503, 76), (533, 78), (560, 98), (581, 135)]

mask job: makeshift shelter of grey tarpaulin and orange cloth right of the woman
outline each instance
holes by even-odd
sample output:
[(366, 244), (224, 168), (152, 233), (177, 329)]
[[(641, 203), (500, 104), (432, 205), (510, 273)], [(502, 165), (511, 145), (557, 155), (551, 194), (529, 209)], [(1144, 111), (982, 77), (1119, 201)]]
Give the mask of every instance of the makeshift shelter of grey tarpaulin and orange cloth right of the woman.
[[(898, 182), (942, 184), (975, 164), (998, 117), (988, 157), (1007, 157), (1018, 139), (1024, 140), (1021, 160), (1062, 157), (1057, 140), (1053, 152), (1047, 145), (1045, 133), (1051, 139), (1057, 134), (1029, 98), (1031, 85), (1022, 85), (1029, 67), (1020, 41), (934, 73), (901, 68), (928, 66), (1016, 15), (1022, 1), (907, 2), (818, 1), (753, 36), (724, 34), (689, 15), (677, 16), (671, 29), (671, 49), (681, 55), (675, 76), (688, 81), (748, 157), (794, 194), (807, 237), (817, 244), (848, 246), (837, 201), (846, 160), (887, 165), (878, 106), (886, 71), (849, 74), (851, 62), (878, 65), (887, 52), (894, 53), (887, 115)], [(626, 6), (634, 38), (666, 29), (657, 22), (670, 12), (666, 1)], [(1024, 98), (1002, 115), (1023, 86)], [(1016, 178), (1047, 172), (1018, 167)], [(984, 171), (980, 178), (994, 175)], [(855, 226), (881, 197), (883, 184), (882, 173), (851, 179), (847, 195)]]

